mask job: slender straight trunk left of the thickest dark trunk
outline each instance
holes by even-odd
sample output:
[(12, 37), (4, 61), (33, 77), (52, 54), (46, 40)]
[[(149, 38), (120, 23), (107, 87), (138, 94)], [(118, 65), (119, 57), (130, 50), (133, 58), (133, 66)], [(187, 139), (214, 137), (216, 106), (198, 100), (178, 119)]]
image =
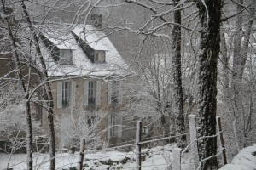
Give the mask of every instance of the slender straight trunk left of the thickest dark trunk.
[[(180, 0), (173, 0), (173, 3), (179, 3)], [(178, 6), (177, 8), (180, 8)], [(185, 133), (185, 123), (183, 115), (183, 87), (182, 87), (182, 71), (181, 71), (181, 11), (174, 11), (174, 22), (172, 35), (172, 77), (173, 77), (173, 114), (175, 116), (175, 133)], [(177, 147), (184, 148), (186, 136), (177, 138)]]

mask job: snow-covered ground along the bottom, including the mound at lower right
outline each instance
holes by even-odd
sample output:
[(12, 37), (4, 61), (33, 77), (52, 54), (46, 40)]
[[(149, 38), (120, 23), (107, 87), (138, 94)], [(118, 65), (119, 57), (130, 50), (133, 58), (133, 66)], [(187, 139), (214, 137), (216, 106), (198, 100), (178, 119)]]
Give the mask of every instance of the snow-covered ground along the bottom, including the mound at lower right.
[[(172, 150), (175, 144), (166, 146), (157, 146), (151, 149), (143, 149), (143, 170), (165, 170), (167, 165), (172, 162)], [(34, 168), (38, 170), (49, 169), (49, 156), (46, 154), (34, 153)], [(113, 170), (113, 169), (136, 169), (135, 154), (131, 152), (119, 151), (97, 151), (95, 153), (87, 153), (84, 159), (85, 170)], [(57, 169), (69, 169), (77, 167), (79, 161), (79, 153), (71, 155), (69, 153), (58, 153), (56, 156)], [(190, 153), (184, 153), (182, 156), (182, 170), (194, 170)], [(14, 170), (26, 169), (25, 154), (0, 154), (0, 170), (7, 167)], [(70, 169), (71, 170), (71, 169)], [(237, 156), (221, 170), (256, 170), (256, 144), (242, 149)]]

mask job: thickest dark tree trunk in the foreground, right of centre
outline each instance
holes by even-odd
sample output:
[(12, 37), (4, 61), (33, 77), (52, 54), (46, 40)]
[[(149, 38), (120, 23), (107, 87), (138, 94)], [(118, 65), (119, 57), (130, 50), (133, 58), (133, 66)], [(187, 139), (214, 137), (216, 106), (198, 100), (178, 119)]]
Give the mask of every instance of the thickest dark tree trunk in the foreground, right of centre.
[(201, 169), (218, 166), (217, 157), (205, 161), (217, 154), (216, 109), (217, 109), (217, 64), (220, 43), (221, 0), (197, 2), (201, 24), (201, 44), (199, 54), (199, 156)]

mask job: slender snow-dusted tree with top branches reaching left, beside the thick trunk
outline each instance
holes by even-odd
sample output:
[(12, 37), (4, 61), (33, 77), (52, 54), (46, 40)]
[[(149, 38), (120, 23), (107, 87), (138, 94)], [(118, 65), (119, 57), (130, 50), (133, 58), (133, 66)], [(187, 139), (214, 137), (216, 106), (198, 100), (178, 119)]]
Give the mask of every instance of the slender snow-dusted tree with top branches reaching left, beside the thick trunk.
[[(139, 8), (143, 8), (149, 16), (147, 20), (143, 23), (139, 23), (138, 26), (125, 26), (125, 29), (138, 32), (139, 34), (148, 37), (161, 37), (166, 39), (166, 44), (170, 45), (169, 57), (172, 57), (173, 66), (172, 75), (174, 83), (174, 96), (173, 96), (173, 111), (175, 115), (176, 122), (176, 133), (184, 133), (185, 125), (183, 118), (183, 90), (182, 90), (182, 79), (181, 79), (181, 13), (183, 9), (181, 6), (182, 3), (175, 1), (173, 3), (160, 3), (160, 2), (137, 2), (133, 0), (127, 0), (125, 3), (131, 3)], [(175, 21), (172, 21), (172, 12), (175, 12)], [(152, 25), (152, 26), (151, 26)], [(172, 31), (172, 26), (173, 31)], [(170, 36), (172, 35), (172, 36)], [(172, 42), (172, 37), (174, 40)], [(173, 53), (172, 54), (172, 50)], [(161, 54), (160, 54), (161, 55)], [(165, 55), (164, 52), (162, 55)], [(170, 59), (171, 60), (171, 59)], [(169, 78), (171, 78), (171, 72), (169, 73)], [(175, 80), (174, 80), (175, 79)], [(170, 88), (170, 87), (169, 87)], [(157, 89), (156, 89), (157, 90)], [(171, 92), (168, 88), (165, 89), (167, 93)], [(172, 94), (170, 94), (171, 96)], [(170, 106), (170, 105), (169, 105)], [(161, 107), (161, 106), (160, 106)], [(166, 127), (165, 116), (161, 117), (161, 123), (163, 127)], [(185, 140), (185, 138), (182, 138)], [(181, 140), (178, 140), (181, 143)], [(182, 145), (182, 144), (180, 144)]]

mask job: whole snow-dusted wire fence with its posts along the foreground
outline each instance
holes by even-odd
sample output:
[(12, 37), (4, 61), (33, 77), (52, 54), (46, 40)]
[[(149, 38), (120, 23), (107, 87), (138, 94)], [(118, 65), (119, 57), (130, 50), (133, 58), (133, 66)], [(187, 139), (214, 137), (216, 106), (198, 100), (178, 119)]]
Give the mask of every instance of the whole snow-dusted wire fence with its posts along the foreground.
[[(152, 167), (157, 167), (157, 166), (166, 166), (166, 170), (172, 169), (172, 170), (181, 170), (181, 159), (182, 156), (184, 155), (184, 153), (186, 153), (189, 149), (190, 151), (190, 158), (193, 160), (192, 162), (190, 162), (189, 164), (191, 164), (192, 166), (194, 166), (195, 170), (200, 170), (201, 168), (201, 163), (203, 161), (207, 161), (209, 159), (211, 159), (212, 157), (216, 157), (216, 156), (222, 156), (223, 157), (223, 164), (227, 164), (227, 158), (226, 158), (226, 153), (225, 153), (225, 148), (224, 148), (224, 137), (222, 135), (223, 131), (221, 128), (221, 122), (220, 122), (220, 117), (216, 117), (216, 121), (217, 121), (217, 127), (218, 127), (218, 132), (215, 135), (212, 136), (204, 136), (201, 138), (216, 138), (219, 137), (219, 143), (220, 143), (220, 150), (218, 150), (218, 153), (215, 156), (209, 156), (207, 158), (205, 158), (204, 160), (200, 160), (199, 159), (199, 154), (198, 154), (198, 144), (197, 141), (198, 138), (197, 137), (197, 130), (196, 130), (196, 117), (195, 115), (189, 115), (189, 133), (183, 133), (183, 134), (179, 134), (179, 135), (174, 135), (174, 136), (167, 136), (167, 137), (162, 137), (162, 136), (155, 136), (155, 137), (151, 137), (148, 138), (150, 140), (146, 140), (146, 141), (142, 141), (142, 122), (138, 121), (137, 122), (137, 127), (136, 128), (136, 139), (130, 140), (130, 141), (125, 141), (125, 142), (120, 142), (118, 144), (109, 144), (108, 147), (102, 149), (102, 150), (85, 150), (85, 144), (86, 144), (86, 140), (84, 138), (81, 139), (80, 142), (80, 150), (75, 150), (75, 151), (79, 151), (79, 153), (77, 153), (77, 157), (74, 157), (72, 162), (69, 162), (63, 166), (67, 166), (67, 165), (72, 165), (75, 167), (78, 167), (79, 170), (82, 170), (84, 168), (84, 164), (86, 164), (86, 159), (85, 159), (85, 154), (95, 154), (96, 152), (99, 151), (106, 151), (106, 150), (116, 150), (116, 149), (120, 149), (120, 148), (125, 148), (125, 147), (129, 147), (129, 146), (133, 146), (135, 147), (135, 153), (124, 153), (124, 154), (118, 154), (115, 156), (134, 156), (135, 155), (135, 166), (134, 167), (122, 167), (122, 169), (136, 169), (136, 170), (142, 170), (143, 167), (148, 167), (148, 165), (142, 165), (142, 145), (143, 144), (148, 144), (148, 143), (155, 143), (158, 142), (160, 140), (166, 140), (166, 139), (175, 139), (177, 137), (181, 137), (183, 135), (189, 135), (190, 136), (190, 142), (189, 144), (187, 144), (187, 146), (182, 150), (180, 148), (174, 148), (172, 150), (172, 161), (166, 162), (166, 163), (158, 163), (158, 164), (154, 164), (154, 165), (150, 165)], [(129, 144), (130, 143), (130, 144)], [(122, 145), (119, 145), (122, 144)], [(109, 147), (112, 146), (112, 147)], [(163, 152), (167, 152), (168, 150), (162, 150)], [(151, 152), (157, 152), (156, 150), (151, 150)], [(61, 158), (65, 158), (65, 157), (70, 157), (69, 156), (57, 156), (58, 159)], [(97, 159), (106, 159), (106, 158), (112, 158), (113, 156), (102, 156), (102, 157), (97, 157)], [(75, 159), (78, 159), (77, 161)], [(44, 160), (44, 162), (40, 162), (40, 165), (35, 165), (35, 167), (40, 167), (43, 164), (47, 163), (50, 160)], [(20, 162), (22, 163), (22, 162)], [(20, 164), (18, 163), (18, 164)], [(17, 164), (16, 164), (17, 165)], [(14, 167), (15, 165), (9, 166), (9, 167)], [(38, 168), (35, 168), (38, 169)], [(62, 167), (59, 167), (58, 169), (62, 169)]]

